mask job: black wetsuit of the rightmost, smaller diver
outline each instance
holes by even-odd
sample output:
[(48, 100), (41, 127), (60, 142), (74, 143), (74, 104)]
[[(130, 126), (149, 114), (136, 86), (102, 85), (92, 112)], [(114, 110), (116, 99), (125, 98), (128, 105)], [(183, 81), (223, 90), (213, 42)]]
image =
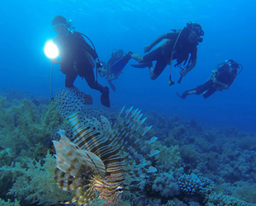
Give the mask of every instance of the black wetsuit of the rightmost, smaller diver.
[[(236, 73), (230, 73), (229, 68), (224, 66), (218, 69), (215, 77), (218, 82), (224, 83), (230, 87), (235, 80)], [(197, 95), (201, 95), (202, 92), (206, 91), (206, 93), (203, 94), (203, 97), (208, 98), (219, 89), (221, 88), (210, 79), (203, 85), (197, 86), (189, 91), (196, 91)]]

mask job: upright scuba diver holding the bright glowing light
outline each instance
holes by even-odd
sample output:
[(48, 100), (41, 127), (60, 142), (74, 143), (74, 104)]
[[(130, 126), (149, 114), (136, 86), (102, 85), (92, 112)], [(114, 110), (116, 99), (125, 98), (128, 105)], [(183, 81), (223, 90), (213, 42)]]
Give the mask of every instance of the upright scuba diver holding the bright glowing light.
[[(94, 45), (92, 44), (92, 49), (86, 40), (83, 39), (83, 34), (74, 31), (70, 22), (63, 16), (55, 16), (52, 25), (53, 30), (58, 34), (54, 42), (59, 49), (60, 58), (59, 62), (55, 59), (53, 63), (59, 63), (60, 71), (66, 75), (65, 87), (73, 87), (73, 82), (79, 75), (85, 78), (89, 87), (102, 93), (102, 105), (110, 107), (108, 87), (100, 85), (94, 77), (93, 68), (95, 64), (99, 73), (105, 72), (102, 68), (102, 63), (98, 59)], [(84, 36), (87, 37), (86, 35)]]

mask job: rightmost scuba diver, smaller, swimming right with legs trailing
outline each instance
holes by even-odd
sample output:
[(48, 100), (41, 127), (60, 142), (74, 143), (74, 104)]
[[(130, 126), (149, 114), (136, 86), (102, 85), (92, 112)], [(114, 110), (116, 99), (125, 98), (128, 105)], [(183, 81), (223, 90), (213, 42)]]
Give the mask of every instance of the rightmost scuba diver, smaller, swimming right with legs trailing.
[(243, 70), (243, 66), (240, 63), (235, 62), (233, 59), (226, 60), (218, 64), (217, 69), (212, 71), (211, 77), (206, 83), (185, 91), (183, 95), (179, 95), (178, 93), (177, 95), (185, 99), (188, 95), (201, 95), (203, 93), (203, 97), (208, 98), (216, 91), (227, 90), (239, 74), (238, 69), (240, 69), (239, 73)]

